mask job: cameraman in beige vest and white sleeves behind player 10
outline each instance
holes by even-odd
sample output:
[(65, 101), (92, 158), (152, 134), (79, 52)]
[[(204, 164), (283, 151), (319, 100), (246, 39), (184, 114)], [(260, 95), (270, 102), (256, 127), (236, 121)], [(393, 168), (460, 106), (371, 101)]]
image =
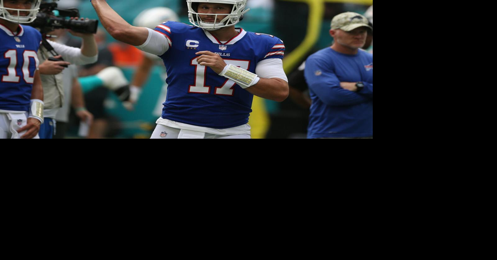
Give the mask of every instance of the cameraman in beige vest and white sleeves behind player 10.
[[(79, 18), (72, 17), (71, 19)], [(83, 19), (84, 18), (81, 18), (81, 20)], [(64, 69), (70, 64), (85, 65), (95, 63), (98, 58), (98, 47), (93, 34), (77, 33), (72, 30), (68, 31), (72, 35), (83, 39), (81, 49), (69, 47), (48, 40), (50, 46), (52, 46), (54, 51), (59, 55), (54, 56), (54, 54), (49, 52), (43, 44), (40, 46), (40, 50), (38, 51), (38, 59), (40, 60), (39, 68), (45, 102), (45, 120), (41, 125), (39, 132), (41, 139), (52, 139), (55, 134), (55, 117), (57, 115), (57, 111), (62, 107), (64, 100)], [(48, 60), (50, 57), (54, 57), (56, 59), (62, 58), (64, 61)], [(82, 114), (82, 120), (91, 117), (84, 107), (79, 108), (79, 111), (81, 111), (80, 114)]]

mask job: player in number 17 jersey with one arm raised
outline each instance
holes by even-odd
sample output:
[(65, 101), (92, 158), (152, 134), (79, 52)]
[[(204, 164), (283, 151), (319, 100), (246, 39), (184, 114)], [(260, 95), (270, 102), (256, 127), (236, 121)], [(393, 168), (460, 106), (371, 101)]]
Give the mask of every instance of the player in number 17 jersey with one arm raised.
[(250, 138), (253, 95), (288, 97), (283, 41), (235, 25), (247, 0), (186, 0), (192, 25), (168, 21), (155, 30), (134, 27), (104, 0), (92, 0), (116, 40), (160, 56), (167, 98), (151, 138)]

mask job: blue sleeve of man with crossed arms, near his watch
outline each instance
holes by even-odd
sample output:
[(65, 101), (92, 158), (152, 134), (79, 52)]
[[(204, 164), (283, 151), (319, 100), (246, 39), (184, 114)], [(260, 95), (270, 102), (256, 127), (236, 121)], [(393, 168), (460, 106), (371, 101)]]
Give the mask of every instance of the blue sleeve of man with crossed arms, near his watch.
[(327, 105), (361, 104), (371, 100), (353, 91), (342, 89), (340, 80), (335, 75), (334, 65), (330, 61), (310, 57), (306, 61), (305, 77), (309, 89)]

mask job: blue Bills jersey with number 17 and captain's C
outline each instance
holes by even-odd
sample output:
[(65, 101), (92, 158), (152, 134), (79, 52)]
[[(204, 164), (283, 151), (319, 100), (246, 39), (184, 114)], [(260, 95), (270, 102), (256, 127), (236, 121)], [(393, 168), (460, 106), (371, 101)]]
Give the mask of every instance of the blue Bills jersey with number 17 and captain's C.
[(248, 123), (253, 95), (199, 65), (195, 53), (215, 52), (227, 64), (255, 73), (259, 61), (283, 58), (285, 46), (272, 35), (236, 29), (239, 34), (226, 43), (208, 31), (179, 22), (168, 21), (155, 29), (170, 43), (169, 50), (160, 56), (166, 65), (168, 84), (162, 118), (216, 129)]

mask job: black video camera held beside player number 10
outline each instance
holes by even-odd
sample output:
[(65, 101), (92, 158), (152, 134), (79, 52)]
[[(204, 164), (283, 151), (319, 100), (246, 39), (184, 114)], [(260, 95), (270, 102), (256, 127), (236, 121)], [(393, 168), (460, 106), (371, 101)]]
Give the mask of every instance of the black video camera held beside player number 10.
[[(53, 13), (54, 10), (59, 11), (59, 16), (61, 17), (56, 17)], [(96, 33), (98, 20), (71, 20), (65, 17), (80, 17), (80, 11), (77, 8), (57, 9), (56, 2), (42, 2), (36, 20), (28, 25), (36, 28), (42, 34), (47, 34), (55, 29), (70, 29), (79, 33)]]

